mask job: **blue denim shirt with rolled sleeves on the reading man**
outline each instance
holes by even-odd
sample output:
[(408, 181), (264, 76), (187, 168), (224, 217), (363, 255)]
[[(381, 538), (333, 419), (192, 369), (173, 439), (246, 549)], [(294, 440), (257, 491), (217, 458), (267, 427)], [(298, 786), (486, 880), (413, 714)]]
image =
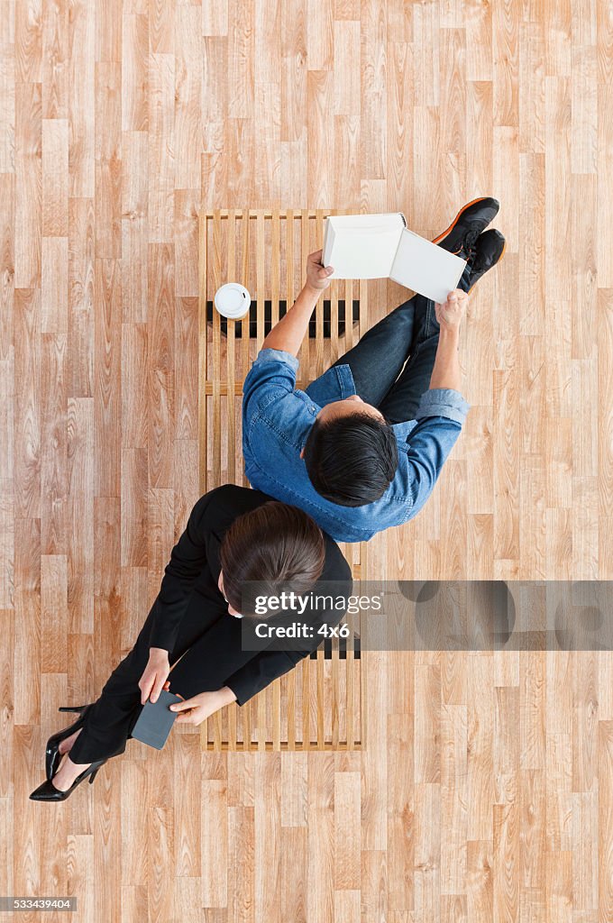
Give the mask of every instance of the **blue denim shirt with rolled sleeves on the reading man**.
[(451, 388), (427, 390), (416, 419), (393, 424), (398, 468), (382, 497), (343, 507), (321, 497), (300, 458), (321, 407), (355, 394), (350, 366), (333, 366), (308, 386), (295, 387), (298, 360), (262, 349), (243, 386), (243, 456), (251, 486), (304, 509), (337, 542), (363, 542), (412, 519), (424, 506), (451, 452), (469, 405)]

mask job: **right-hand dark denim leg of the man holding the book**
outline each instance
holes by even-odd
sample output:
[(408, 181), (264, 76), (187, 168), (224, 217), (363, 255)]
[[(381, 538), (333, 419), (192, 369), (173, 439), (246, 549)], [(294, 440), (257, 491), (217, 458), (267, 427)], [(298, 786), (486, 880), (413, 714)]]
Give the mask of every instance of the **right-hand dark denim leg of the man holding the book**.
[[(467, 291), (470, 266), (466, 266), (458, 288)], [(379, 404), (379, 410), (390, 423), (415, 420), (419, 399), (430, 387), (430, 378), (439, 346), (439, 321), (435, 305), (421, 298), (415, 306), (415, 330), (410, 356), (399, 378)]]

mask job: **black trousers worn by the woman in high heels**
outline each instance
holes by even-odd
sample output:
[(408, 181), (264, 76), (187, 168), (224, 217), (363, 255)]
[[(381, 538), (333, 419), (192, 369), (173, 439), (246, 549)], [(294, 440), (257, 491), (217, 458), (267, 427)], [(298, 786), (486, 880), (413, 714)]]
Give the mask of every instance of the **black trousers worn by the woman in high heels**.
[[(115, 667), (90, 709), (70, 749), (71, 761), (90, 763), (126, 749), (126, 740), (143, 707), (138, 680), (149, 660), (154, 607), (155, 603), (134, 647)], [(254, 656), (253, 651), (241, 649), (240, 618), (230, 616), (222, 607), (215, 608), (198, 592), (191, 594), (174, 649), (169, 653), (171, 666), (184, 653), (168, 677), (171, 692), (184, 699), (221, 689), (234, 671)]]

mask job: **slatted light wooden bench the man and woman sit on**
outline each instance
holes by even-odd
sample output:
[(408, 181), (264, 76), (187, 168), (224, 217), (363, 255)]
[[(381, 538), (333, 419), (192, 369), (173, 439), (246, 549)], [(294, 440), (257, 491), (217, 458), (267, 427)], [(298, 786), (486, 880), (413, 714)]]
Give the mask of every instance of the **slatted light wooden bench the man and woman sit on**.
[[(334, 210), (203, 210), (199, 217), (200, 492), (248, 486), (241, 452), (243, 380), (270, 325), (294, 304), (306, 257), (323, 242)], [(225, 321), (212, 308), (224, 282), (251, 294), (250, 318)], [(324, 301), (326, 302), (324, 304)], [(355, 323), (353, 322), (355, 318)], [(297, 385), (306, 388), (367, 329), (367, 284), (332, 280), (319, 299), (312, 336), (299, 354)], [(325, 335), (324, 335), (325, 334)], [(366, 579), (367, 545), (341, 545), (355, 579)], [(242, 707), (233, 704), (201, 725), (208, 749), (360, 749), (362, 686), (359, 621), (351, 638), (327, 641)], [(345, 650), (346, 648), (346, 650)]]

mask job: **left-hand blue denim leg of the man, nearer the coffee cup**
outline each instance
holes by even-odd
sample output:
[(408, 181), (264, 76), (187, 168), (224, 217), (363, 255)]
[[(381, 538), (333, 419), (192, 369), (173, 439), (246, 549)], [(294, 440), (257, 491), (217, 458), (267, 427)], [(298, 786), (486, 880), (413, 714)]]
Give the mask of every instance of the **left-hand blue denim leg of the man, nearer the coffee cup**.
[(356, 394), (375, 407), (391, 389), (406, 362), (413, 338), (415, 306), (420, 299), (425, 301), (421, 295), (415, 295), (394, 308), (331, 365), (331, 368), (349, 366)]

